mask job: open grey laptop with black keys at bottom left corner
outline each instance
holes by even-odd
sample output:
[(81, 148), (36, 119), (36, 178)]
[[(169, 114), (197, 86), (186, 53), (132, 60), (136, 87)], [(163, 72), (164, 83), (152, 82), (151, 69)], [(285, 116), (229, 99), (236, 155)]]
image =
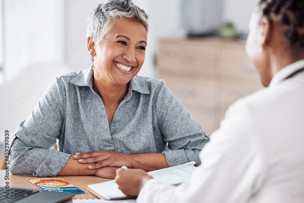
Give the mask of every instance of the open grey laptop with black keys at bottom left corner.
[(59, 203), (71, 199), (74, 194), (64, 192), (51, 192), (42, 190), (31, 190), (17, 187), (9, 187), (9, 198), (6, 198), (6, 188), (0, 187), (1, 203)]

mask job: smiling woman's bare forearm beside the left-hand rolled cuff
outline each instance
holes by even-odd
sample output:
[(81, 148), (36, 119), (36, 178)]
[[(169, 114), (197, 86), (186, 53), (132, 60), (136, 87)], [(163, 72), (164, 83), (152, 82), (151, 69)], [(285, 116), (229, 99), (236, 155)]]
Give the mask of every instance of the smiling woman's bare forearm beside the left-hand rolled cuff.
[(97, 169), (89, 169), (89, 163), (79, 163), (78, 160), (73, 159), (72, 156), (67, 160), (67, 163), (63, 169), (57, 174), (57, 176), (88, 176), (94, 175)]

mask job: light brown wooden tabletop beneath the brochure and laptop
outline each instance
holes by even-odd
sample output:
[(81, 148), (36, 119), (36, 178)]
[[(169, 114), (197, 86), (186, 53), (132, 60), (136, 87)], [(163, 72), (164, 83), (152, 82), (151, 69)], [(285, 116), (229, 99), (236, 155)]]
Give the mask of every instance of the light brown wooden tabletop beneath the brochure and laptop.
[[(20, 187), (27, 189), (39, 190), (35, 185), (30, 183), (27, 178), (33, 178), (33, 176), (17, 176), (9, 174), (9, 180), (5, 180), (5, 170), (0, 170), (0, 185), (5, 186), (5, 182), (9, 181), (9, 187)], [(98, 199), (94, 194), (89, 192), (85, 187), (90, 184), (103, 183), (112, 179), (100, 178), (96, 176), (60, 176), (62, 179), (78, 187), (85, 194), (75, 194), (74, 199)], [(66, 201), (66, 203), (71, 203), (72, 200)]]

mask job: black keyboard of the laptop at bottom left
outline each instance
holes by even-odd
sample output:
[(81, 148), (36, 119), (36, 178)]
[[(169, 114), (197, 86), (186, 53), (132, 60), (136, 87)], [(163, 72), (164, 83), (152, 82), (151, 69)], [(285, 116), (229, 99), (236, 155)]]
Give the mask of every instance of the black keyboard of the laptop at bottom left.
[(20, 199), (26, 198), (32, 194), (40, 192), (39, 190), (26, 190), (26, 189), (16, 189), (16, 188), (9, 188), (9, 198), (5, 197), (5, 190), (6, 188), (0, 187), (0, 202), (1, 203), (11, 203), (18, 201)]

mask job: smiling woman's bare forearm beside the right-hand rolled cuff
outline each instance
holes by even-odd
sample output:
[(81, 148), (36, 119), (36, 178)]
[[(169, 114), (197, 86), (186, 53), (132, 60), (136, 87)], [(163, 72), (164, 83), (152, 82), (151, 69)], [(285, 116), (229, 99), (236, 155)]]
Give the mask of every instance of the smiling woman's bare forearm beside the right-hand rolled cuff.
[(149, 172), (169, 167), (166, 156), (162, 153), (133, 154), (130, 156), (132, 168), (143, 169)]

